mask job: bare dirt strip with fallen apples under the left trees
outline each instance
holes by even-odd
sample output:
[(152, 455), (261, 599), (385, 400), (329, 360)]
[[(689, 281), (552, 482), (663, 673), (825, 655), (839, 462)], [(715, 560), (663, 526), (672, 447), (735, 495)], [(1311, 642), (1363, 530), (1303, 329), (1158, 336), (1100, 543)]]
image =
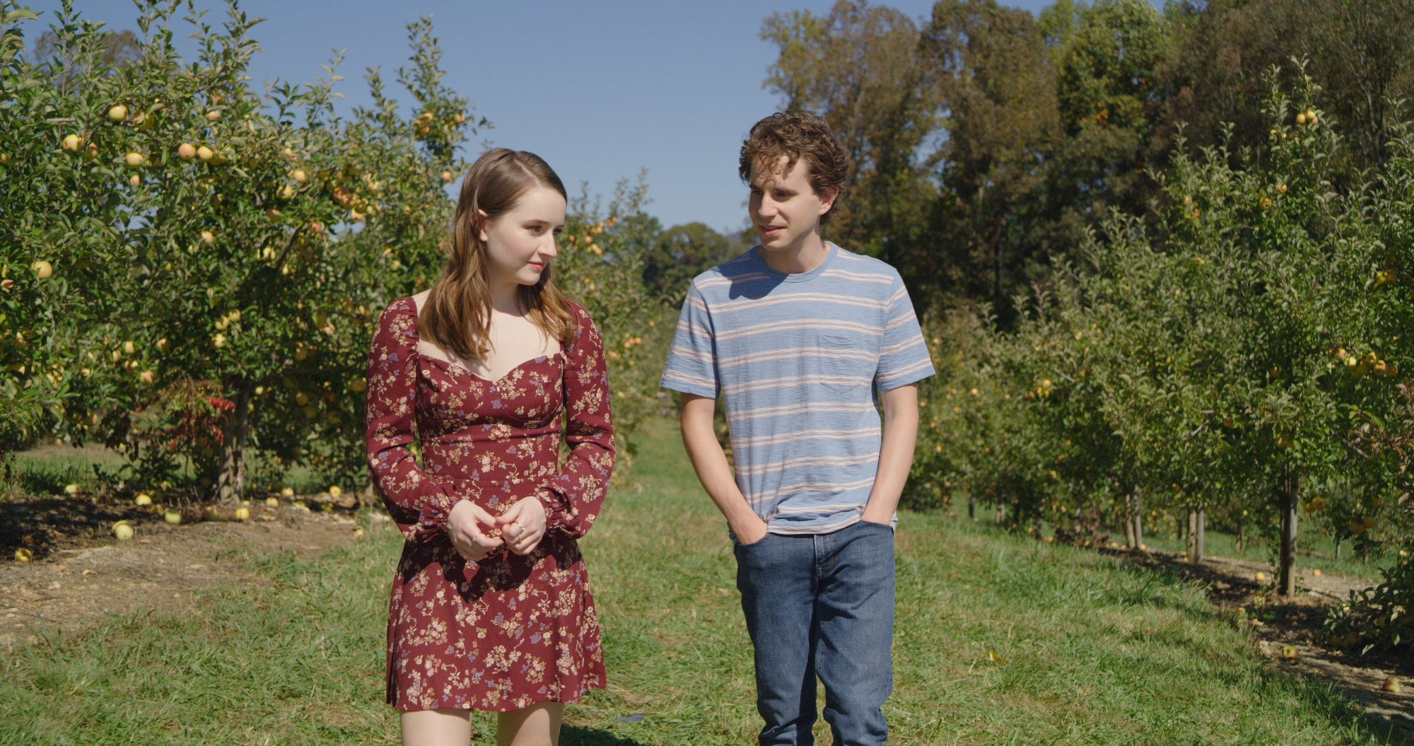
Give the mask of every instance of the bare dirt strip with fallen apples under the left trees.
[[(318, 503), (314, 503), (318, 507)], [(235, 520), (188, 509), (182, 524), (120, 504), (42, 497), (0, 504), (0, 654), (33, 644), (51, 630), (74, 630), (109, 613), (189, 609), (195, 592), (226, 582), (260, 582), (243, 557), (274, 551), (314, 557), (355, 538), (346, 510), (310, 510), (301, 503), (250, 507)], [(375, 513), (375, 516), (382, 516)], [(116, 520), (136, 534), (117, 541)], [(34, 560), (17, 562), (16, 548)]]

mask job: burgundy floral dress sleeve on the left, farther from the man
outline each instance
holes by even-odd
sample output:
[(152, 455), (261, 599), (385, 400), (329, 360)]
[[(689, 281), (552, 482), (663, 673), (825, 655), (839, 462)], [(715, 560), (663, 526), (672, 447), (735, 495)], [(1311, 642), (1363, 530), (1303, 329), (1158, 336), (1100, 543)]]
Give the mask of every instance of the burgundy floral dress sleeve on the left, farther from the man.
[(389, 304), (368, 353), (365, 444), (373, 483), (409, 541), (445, 535), (457, 503), (417, 466), (409, 445), (417, 411), (417, 309), (411, 298)]

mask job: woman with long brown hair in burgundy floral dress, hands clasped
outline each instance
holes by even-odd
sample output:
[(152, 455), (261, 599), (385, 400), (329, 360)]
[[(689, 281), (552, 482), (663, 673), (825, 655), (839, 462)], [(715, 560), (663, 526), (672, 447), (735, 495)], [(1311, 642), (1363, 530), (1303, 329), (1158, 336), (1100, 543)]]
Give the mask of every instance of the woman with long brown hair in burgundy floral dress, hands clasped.
[(368, 462), (406, 537), (387, 620), (404, 745), (467, 745), (471, 709), (499, 712), (502, 746), (554, 745), (564, 702), (604, 687), (575, 538), (614, 431), (600, 333), (550, 280), (564, 205), (539, 157), (478, 158), (447, 268), (383, 311), (369, 352)]

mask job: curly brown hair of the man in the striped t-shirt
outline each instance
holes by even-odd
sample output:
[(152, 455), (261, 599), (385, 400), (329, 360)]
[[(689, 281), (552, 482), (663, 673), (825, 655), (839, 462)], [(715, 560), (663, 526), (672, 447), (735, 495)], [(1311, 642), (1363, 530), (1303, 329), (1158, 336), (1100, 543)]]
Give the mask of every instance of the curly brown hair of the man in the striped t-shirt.
[(834, 138), (830, 126), (814, 112), (793, 109), (776, 112), (751, 126), (751, 134), (741, 143), (737, 172), (741, 181), (751, 184), (752, 165), (775, 170), (782, 155), (786, 157), (786, 170), (802, 158), (810, 165), (810, 188), (814, 194), (824, 194), (830, 188), (839, 191), (830, 211), (820, 216), (820, 225), (824, 225), (848, 191), (844, 182), (850, 178), (850, 155)]

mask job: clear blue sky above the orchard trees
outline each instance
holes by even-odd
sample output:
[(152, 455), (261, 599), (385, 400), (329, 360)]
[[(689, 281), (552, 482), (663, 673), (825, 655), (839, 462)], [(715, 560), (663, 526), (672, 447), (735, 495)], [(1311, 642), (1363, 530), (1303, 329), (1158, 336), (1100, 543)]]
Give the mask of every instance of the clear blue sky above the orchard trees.
[[(701, 220), (718, 230), (745, 222), (737, 150), (754, 122), (779, 100), (761, 88), (775, 47), (761, 21), (778, 10), (829, 11), (830, 0), (243, 0), (267, 18), (253, 37), (262, 51), (252, 76), (308, 82), (332, 49), (346, 49), (338, 90), (344, 105), (368, 100), (363, 71), (380, 66), (390, 93), (407, 59), (406, 24), (433, 16), (441, 37), (445, 82), (472, 100), (496, 146), (530, 150), (571, 191), (587, 182), (612, 194), (621, 178), (648, 170), (648, 212), (663, 226)], [(875, 1), (918, 18), (932, 0)], [(1032, 13), (1044, 0), (1012, 0)], [(58, 0), (28, 0), (37, 11)], [(137, 30), (132, 0), (78, 0), (85, 17), (107, 28)], [(225, 3), (198, 0), (219, 24)], [(40, 23), (47, 25), (44, 13)], [(30, 40), (42, 28), (27, 24)], [(174, 28), (184, 35), (185, 24)], [(33, 41), (31, 41), (33, 48)], [(410, 100), (406, 95), (403, 100)], [(472, 143), (471, 153), (479, 151)]]

